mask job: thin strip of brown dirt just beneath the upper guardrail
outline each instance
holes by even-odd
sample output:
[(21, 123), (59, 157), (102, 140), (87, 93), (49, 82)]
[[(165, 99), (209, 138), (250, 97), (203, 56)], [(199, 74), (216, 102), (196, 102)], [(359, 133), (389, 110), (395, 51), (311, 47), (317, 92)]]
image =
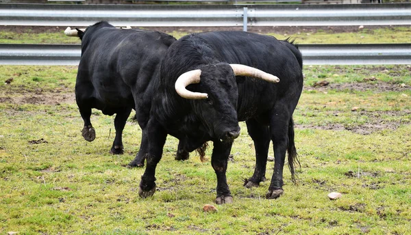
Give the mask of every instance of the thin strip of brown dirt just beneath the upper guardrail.
[[(71, 28), (75, 28), (73, 25)], [(78, 27), (78, 26), (77, 26)], [(81, 26), (84, 27), (84, 26)], [(404, 27), (406, 27), (404, 25)], [(134, 27), (133, 27), (134, 28)], [(394, 29), (394, 26), (366, 26), (364, 29)], [(66, 29), (65, 26), (14, 26), (1, 25), (0, 31), (12, 31), (16, 33), (62, 33)], [(194, 33), (199, 31), (219, 31), (219, 30), (238, 30), (242, 31), (242, 26), (238, 27), (144, 27), (147, 30), (162, 31), (164, 33), (172, 33), (173, 31), (182, 31), (187, 33)], [(279, 34), (294, 34), (294, 33), (316, 33), (318, 31), (325, 33), (347, 33), (359, 32), (364, 29), (359, 29), (358, 26), (343, 25), (343, 26), (249, 26), (247, 30), (251, 33), (279, 33)]]

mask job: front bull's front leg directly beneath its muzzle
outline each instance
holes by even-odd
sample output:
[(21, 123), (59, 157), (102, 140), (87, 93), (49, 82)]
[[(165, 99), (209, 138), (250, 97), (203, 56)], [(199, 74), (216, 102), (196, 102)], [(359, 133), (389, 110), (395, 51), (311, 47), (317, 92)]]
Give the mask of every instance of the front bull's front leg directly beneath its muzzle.
[(232, 143), (225, 143), (219, 140), (214, 141), (212, 150), (211, 165), (217, 176), (217, 197), (216, 204), (232, 203), (233, 197), (229, 191), (225, 172)]

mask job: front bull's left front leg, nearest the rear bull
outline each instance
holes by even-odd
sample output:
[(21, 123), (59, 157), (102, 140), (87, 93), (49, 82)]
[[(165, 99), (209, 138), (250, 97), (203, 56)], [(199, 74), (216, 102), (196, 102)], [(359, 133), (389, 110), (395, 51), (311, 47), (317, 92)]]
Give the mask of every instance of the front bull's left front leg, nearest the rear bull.
[(149, 120), (147, 125), (149, 148), (147, 153), (147, 167), (141, 176), (138, 195), (140, 197), (151, 197), (155, 192), (155, 167), (160, 162), (164, 143), (166, 142), (166, 130), (155, 118)]

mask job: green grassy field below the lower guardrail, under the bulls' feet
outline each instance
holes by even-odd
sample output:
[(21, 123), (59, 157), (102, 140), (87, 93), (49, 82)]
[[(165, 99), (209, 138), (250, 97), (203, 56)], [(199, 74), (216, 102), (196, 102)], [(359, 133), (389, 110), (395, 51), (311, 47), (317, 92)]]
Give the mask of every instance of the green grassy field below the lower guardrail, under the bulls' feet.
[[(383, 70), (388, 72), (379, 80), (364, 82)], [(295, 130), (298, 184), (285, 170), (279, 199), (264, 198), (269, 180), (254, 189), (242, 186), (254, 167), (253, 143), (242, 123), (227, 170), (234, 204), (215, 205), (210, 161), (201, 163), (194, 153), (188, 161), (174, 161), (175, 138), (164, 146), (158, 191), (140, 199), (144, 169), (123, 167), (138, 151), (138, 125), (128, 122), (125, 127), (125, 154), (111, 155), (113, 117), (93, 111), (97, 137), (89, 143), (82, 138), (75, 102), (33, 100), (72, 95), (76, 67), (0, 66), (0, 234), (407, 234), (410, 89), (324, 92), (311, 86), (324, 79), (341, 85), (410, 86), (406, 71), (407, 66), (306, 66), (306, 87), (295, 111), (295, 123), (302, 125)], [(12, 83), (4, 84), (10, 77)], [(27, 102), (16, 101), (21, 97)], [(351, 111), (353, 106), (360, 110)], [(390, 128), (375, 128), (368, 135), (349, 130), (375, 122)], [(323, 128), (333, 124), (343, 128)], [(29, 143), (41, 138), (47, 143)], [(269, 154), (273, 156), (272, 149)], [(267, 168), (270, 179), (273, 163)], [(343, 197), (330, 201), (332, 191)], [(204, 204), (215, 205), (218, 212), (203, 212)]]

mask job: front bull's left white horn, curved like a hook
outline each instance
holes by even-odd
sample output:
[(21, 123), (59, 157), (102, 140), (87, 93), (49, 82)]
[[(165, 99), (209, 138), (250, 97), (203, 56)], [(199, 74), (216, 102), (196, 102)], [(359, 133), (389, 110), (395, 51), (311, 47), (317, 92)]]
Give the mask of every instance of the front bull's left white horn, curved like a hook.
[(208, 98), (208, 94), (206, 93), (199, 93), (199, 92), (190, 92), (186, 89), (186, 86), (192, 83), (199, 83), (200, 82), (200, 75), (201, 70), (190, 70), (188, 72), (184, 72), (181, 74), (177, 81), (175, 81), (175, 91), (179, 96), (182, 98), (187, 98), (190, 100), (201, 100)]

